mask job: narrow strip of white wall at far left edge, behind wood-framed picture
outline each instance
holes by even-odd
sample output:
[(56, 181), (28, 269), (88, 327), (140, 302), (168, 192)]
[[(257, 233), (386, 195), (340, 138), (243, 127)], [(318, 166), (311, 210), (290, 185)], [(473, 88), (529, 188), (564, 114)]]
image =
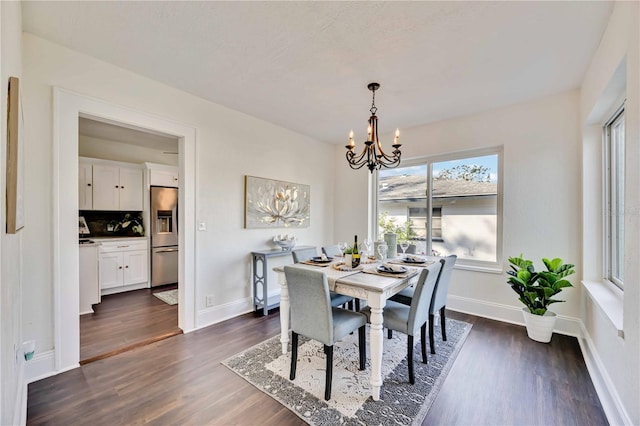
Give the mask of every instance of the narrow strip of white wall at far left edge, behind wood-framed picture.
[[(6, 140), (7, 140), (7, 87), (9, 77), (20, 78), (24, 85), (21, 61), (22, 15), (19, 2), (0, 2), (0, 40), (2, 68), (0, 99), (2, 102), (2, 132), (0, 134), (0, 424), (18, 424), (24, 421), (23, 404), (26, 403), (23, 384), (24, 359), (22, 351), (16, 358), (15, 347), (28, 340), (22, 330), (22, 237), (24, 231), (8, 235), (6, 223)], [(22, 89), (22, 87), (21, 87)], [(26, 126), (25, 126), (26, 129)], [(26, 226), (31, 224), (27, 221)]]

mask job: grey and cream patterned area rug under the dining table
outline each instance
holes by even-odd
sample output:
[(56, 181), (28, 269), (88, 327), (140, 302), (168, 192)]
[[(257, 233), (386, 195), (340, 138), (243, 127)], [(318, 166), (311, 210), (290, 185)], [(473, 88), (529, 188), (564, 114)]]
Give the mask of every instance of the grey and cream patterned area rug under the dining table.
[[(247, 349), (222, 363), (262, 392), (279, 401), (310, 425), (419, 425), (462, 348), (471, 324), (447, 319), (447, 341), (441, 339), (436, 318), (436, 354), (422, 363), (415, 339), (415, 385), (409, 384), (407, 337), (384, 337), (383, 385), (380, 400), (371, 398), (371, 357), (367, 326), (367, 368), (358, 370), (358, 334), (334, 347), (331, 399), (324, 400), (325, 357), (322, 344), (300, 336), (296, 379), (289, 380), (291, 350), (282, 354), (280, 336)], [(427, 342), (427, 352), (429, 343)], [(289, 345), (291, 346), (291, 345)]]

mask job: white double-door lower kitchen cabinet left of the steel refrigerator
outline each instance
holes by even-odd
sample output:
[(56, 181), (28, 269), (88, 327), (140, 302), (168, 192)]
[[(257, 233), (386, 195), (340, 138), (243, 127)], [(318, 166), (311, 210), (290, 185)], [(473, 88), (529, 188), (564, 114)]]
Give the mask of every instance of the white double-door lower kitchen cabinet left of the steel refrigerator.
[[(102, 294), (130, 290), (133, 285), (136, 288), (148, 287), (149, 251), (146, 239), (102, 242), (99, 281)], [(105, 293), (105, 290), (109, 291)]]

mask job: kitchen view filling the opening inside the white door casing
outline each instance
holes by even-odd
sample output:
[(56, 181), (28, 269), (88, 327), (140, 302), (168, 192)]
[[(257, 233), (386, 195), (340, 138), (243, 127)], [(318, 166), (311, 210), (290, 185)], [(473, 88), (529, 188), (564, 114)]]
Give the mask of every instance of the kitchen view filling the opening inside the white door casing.
[[(153, 199), (153, 197), (150, 197), (150, 192), (153, 193), (154, 190), (150, 185), (157, 184), (154, 179), (158, 179), (158, 173), (164, 172), (173, 178), (170, 182), (163, 181), (161, 183), (171, 186), (171, 188), (163, 189), (173, 191), (172, 193), (175, 194), (173, 199), (177, 201), (177, 194), (179, 193), (179, 180), (177, 179), (179, 140), (169, 135), (122, 127), (84, 116), (79, 118), (78, 129), (78, 155), (79, 163), (81, 164), (81, 177), (83, 178), (79, 187), (82, 195), (80, 197), (79, 216), (83, 220), (86, 219), (84, 223), (88, 224), (85, 234), (82, 235), (84, 244), (80, 245), (81, 299), (85, 300), (83, 298), (83, 288), (86, 288), (87, 284), (90, 283), (91, 288), (95, 289), (94, 285), (98, 281), (103, 282), (102, 278), (98, 279), (98, 275), (100, 277), (103, 276), (102, 266), (104, 265), (102, 265), (102, 260), (98, 259), (102, 259), (105, 256), (107, 265), (111, 265), (111, 262), (114, 261), (113, 259), (117, 259), (110, 252), (97, 255), (98, 252), (102, 253), (104, 246), (95, 246), (95, 244), (100, 244), (101, 242), (128, 244), (132, 241), (130, 240), (131, 236), (138, 237), (140, 235), (139, 232), (132, 234), (129, 231), (124, 233), (124, 229), (114, 233), (113, 225), (111, 225), (111, 232), (109, 232), (110, 223), (120, 221), (124, 215), (136, 217), (137, 222), (130, 221), (129, 224), (139, 223), (144, 229), (142, 233), (145, 237), (144, 242), (135, 241), (137, 245), (142, 243), (142, 247), (145, 249), (144, 251), (136, 252), (138, 258), (143, 257), (146, 259), (144, 262), (140, 262), (140, 264), (146, 263), (145, 273), (136, 274), (138, 280), (143, 280), (142, 283), (134, 284), (133, 286), (126, 285), (127, 275), (125, 274), (123, 277), (124, 285), (121, 282), (120, 285), (115, 287), (107, 286), (109, 287), (106, 290), (107, 294), (105, 294), (105, 290), (98, 290), (103, 293), (101, 297), (96, 294), (91, 300), (91, 304), (87, 302), (81, 304), (80, 364), (87, 364), (182, 333), (182, 330), (178, 328), (178, 306), (173, 304), (176, 301), (172, 298), (171, 301), (165, 302), (163, 300), (166, 300), (166, 298), (161, 298), (162, 294), (171, 294), (173, 296), (173, 293), (177, 292), (178, 289), (179, 246), (177, 227), (174, 226), (176, 232), (172, 234), (174, 249), (171, 253), (173, 257), (170, 273), (167, 274), (167, 279), (162, 282), (164, 285), (155, 287), (154, 285), (158, 280), (154, 278), (154, 272), (158, 268), (165, 266), (166, 262), (155, 262), (154, 257), (151, 255), (154, 250), (153, 247), (157, 243), (155, 243), (156, 234), (153, 226), (154, 216), (153, 214), (149, 215), (150, 212), (153, 212), (154, 205), (153, 202), (150, 203), (150, 198)], [(101, 210), (97, 208), (96, 199), (102, 200), (102, 204), (104, 204), (105, 192), (110, 193), (112, 187), (110, 185), (98, 185), (95, 182), (95, 167), (100, 167), (101, 169), (105, 167), (125, 167), (128, 173), (137, 175), (138, 180), (130, 182), (130, 185), (135, 183), (139, 190), (144, 189), (141, 192), (135, 192), (139, 197), (137, 201), (136, 198), (128, 200), (132, 206), (131, 208), (135, 208), (136, 211), (122, 209), (122, 204), (120, 205), (120, 210)], [(92, 168), (94, 169), (93, 179), (91, 178)], [(137, 207), (133, 207), (136, 205)], [(175, 215), (175, 204), (173, 212)], [(123, 233), (126, 235), (119, 235)], [(104, 240), (105, 238), (107, 240)], [(150, 242), (152, 244), (149, 244)], [(144, 253), (146, 253), (146, 256)], [(101, 264), (99, 274), (87, 274), (87, 270), (95, 269), (96, 262)], [(120, 261), (115, 260), (115, 262), (119, 264)], [(151, 266), (154, 267), (152, 268)], [(110, 271), (109, 268), (106, 269)], [(126, 273), (130, 269), (121, 269), (121, 271)], [(111, 276), (112, 274), (107, 275)], [(131, 283), (132, 279), (129, 279), (129, 282)], [(140, 288), (143, 286), (148, 287), (149, 283), (153, 288)], [(103, 285), (100, 284), (99, 287), (102, 289)], [(154, 297), (156, 293), (160, 294), (161, 297)], [(92, 294), (95, 293), (92, 292)], [(95, 297), (99, 297), (99, 299)]]

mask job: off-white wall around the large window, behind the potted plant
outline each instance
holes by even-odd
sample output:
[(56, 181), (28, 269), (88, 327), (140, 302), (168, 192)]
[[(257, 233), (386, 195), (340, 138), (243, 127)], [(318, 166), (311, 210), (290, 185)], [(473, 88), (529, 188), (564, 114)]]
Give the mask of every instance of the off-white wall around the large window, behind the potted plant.
[[(393, 126), (393, 123), (390, 123)], [(391, 135), (383, 137), (388, 146)], [(580, 145), (578, 92), (514, 105), (473, 116), (402, 130), (405, 159), (455, 151), (504, 146), (503, 252), (523, 253), (540, 268), (542, 257), (561, 257), (577, 265), (580, 282)], [(354, 196), (336, 197), (334, 236), (355, 227), (350, 215), (366, 215), (366, 175), (347, 167), (344, 148), (335, 148), (336, 181), (350, 182)], [(364, 195), (363, 195), (364, 194)], [(343, 220), (340, 216), (349, 212)], [(523, 323), (521, 304), (504, 273), (456, 269), (448, 306), (497, 319)], [(567, 303), (553, 306), (561, 318), (556, 327), (578, 333), (580, 290), (566, 289)], [(524, 331), (523, 331), (524, 332)]]

